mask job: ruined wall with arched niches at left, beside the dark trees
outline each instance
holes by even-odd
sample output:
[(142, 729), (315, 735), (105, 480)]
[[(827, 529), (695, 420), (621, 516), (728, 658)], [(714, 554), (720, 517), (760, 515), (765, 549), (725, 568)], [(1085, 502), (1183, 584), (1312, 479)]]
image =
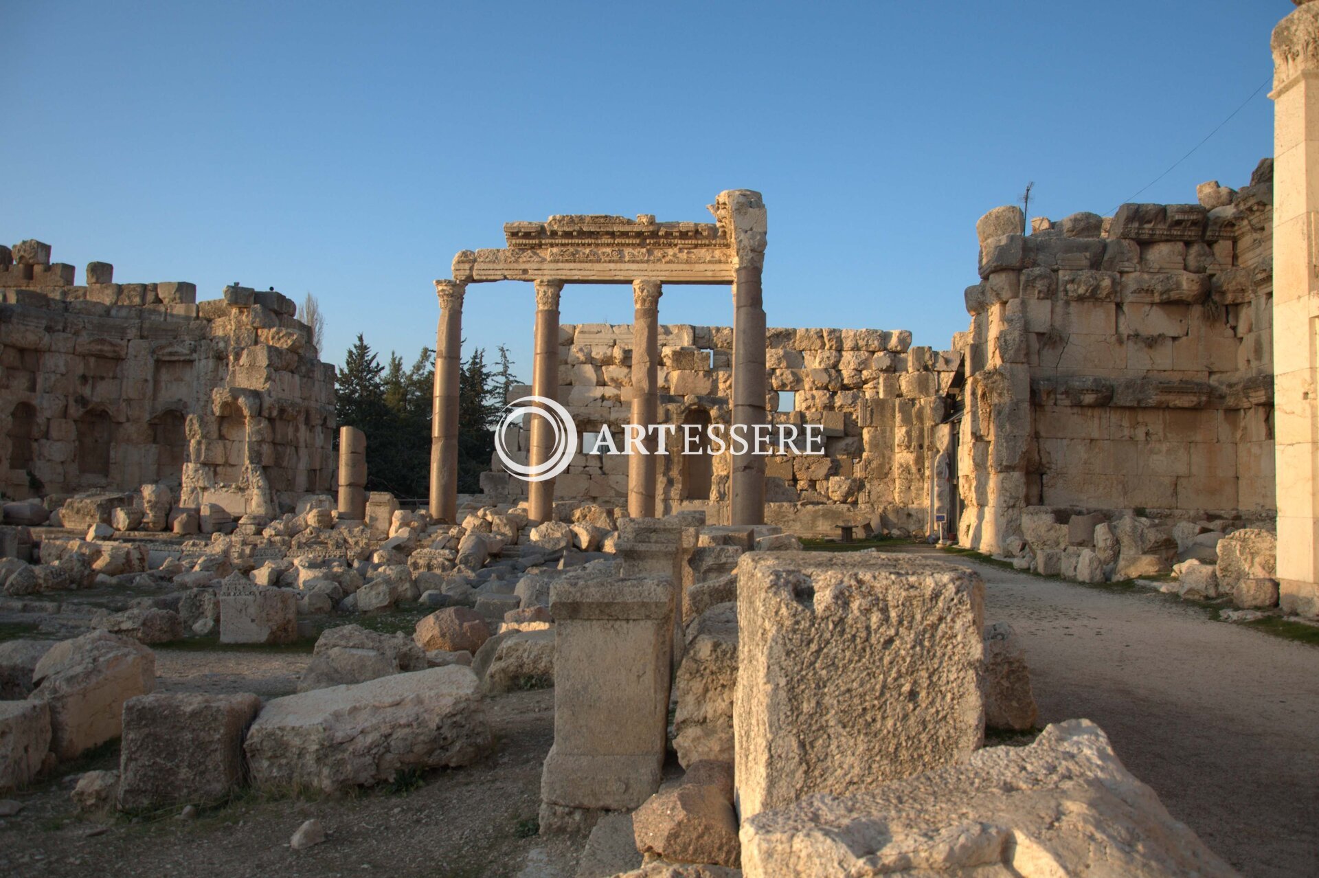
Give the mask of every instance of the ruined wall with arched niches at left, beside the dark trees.
[(11, 497), (165, 481), (182, 505), (257, 512), (334, 484), (334, 366), (295, 307), (227, 287), (115, 283), (106, 262), (0, 247), (0, 490)]

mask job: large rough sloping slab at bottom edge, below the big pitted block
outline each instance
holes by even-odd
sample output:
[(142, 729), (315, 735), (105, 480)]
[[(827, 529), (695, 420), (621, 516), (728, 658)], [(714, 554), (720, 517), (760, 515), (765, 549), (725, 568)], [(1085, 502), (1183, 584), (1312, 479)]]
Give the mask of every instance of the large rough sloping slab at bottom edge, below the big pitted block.
[(740, 834), (747, 878), (1236, 875), (1088, 720), (865, 792), (811, 796), (744, 820)]

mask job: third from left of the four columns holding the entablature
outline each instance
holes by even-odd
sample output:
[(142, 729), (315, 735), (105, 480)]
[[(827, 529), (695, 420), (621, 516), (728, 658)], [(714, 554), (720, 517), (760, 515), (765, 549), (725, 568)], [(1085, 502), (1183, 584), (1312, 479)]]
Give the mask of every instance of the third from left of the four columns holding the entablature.
[[(660, 281), (633, 281), (632, 301), (632, 423), (642, 430), (660, 418)], [(628, 515), (656, 515), (657, 436), (646, 434), (649, 454), (628, 456)]]

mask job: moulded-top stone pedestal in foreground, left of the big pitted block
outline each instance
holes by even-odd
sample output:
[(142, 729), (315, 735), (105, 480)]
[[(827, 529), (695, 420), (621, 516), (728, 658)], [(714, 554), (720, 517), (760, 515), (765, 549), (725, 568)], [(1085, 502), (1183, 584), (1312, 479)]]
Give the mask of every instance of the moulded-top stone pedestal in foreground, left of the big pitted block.
[(541, 829), (588, 829), (658, 787), (669, 717), (673, 581), (574, 575), (550, 591), (554, 746)]

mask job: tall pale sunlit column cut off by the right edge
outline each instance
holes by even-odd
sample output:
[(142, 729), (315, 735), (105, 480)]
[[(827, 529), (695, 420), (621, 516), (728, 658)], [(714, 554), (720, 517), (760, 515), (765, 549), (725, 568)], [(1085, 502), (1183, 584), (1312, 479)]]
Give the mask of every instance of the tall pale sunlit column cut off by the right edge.
[(1319, 616), (1319, 3), (1273, 29), (1273, 382), (1282, 609)]

